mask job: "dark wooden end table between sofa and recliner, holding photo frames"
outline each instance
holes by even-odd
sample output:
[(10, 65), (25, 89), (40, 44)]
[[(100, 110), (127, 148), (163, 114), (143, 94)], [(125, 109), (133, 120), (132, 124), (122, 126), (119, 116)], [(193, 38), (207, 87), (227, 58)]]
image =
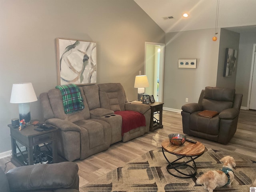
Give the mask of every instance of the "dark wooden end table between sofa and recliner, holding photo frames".
[[(158, 128), (163, 128), (164, 126), (162, 125), (162, 118), (163, 118), (163, 104), (160, 102), (154, 102), (149, 105), (151, 108), (151, 118), (150, 118), (150, 127), (149, 130), (153, 132), (154, 130)], [(159, 114), (159, 117), (156, 117), (154, 115)]]

